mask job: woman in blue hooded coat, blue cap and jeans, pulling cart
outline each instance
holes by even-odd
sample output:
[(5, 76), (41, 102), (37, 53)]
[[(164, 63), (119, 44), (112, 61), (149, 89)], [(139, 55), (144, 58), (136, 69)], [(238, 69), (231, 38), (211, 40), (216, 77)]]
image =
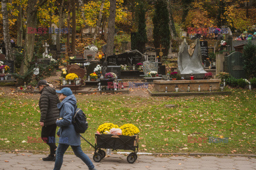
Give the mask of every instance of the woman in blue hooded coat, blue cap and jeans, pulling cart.
[(75, 96), (70, 88), (63, 88), (61, 90), (56, 90), (56, 92), (59, 94), (59, 99), (61, 100), (61, 103), (57, 105), (60, 109), (60, 118), (56, 121), (57, 126), (60, 127), (57, 132), (57, 135), (60, 138), (53, 170), (61, 168), (63, 155), (69, 146), (71, 146), (75, 155), (82, 159), (90, 170), (96, 170), (90, 158), (82, 151), (80, 135), (75, 131), (74, 125), (71, 123), (72, 117), (75, 114)]

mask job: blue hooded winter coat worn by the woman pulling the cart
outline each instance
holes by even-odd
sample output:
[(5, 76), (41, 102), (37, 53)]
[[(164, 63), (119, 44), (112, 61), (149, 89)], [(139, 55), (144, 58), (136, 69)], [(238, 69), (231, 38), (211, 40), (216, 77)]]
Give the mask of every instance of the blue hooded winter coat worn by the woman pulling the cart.
[(71, 146), (80, 146), (80, 134), (75, 131), (74, 125), (71, 123), (75, 114), (75, 96), (67, 96), (57, 106), (60, 109), (60, 117), (62, 117), (62, 120), (56, 121), (57, 126), (60, 127), (57, 132), (57, 134), (60, 135), (60, 138), (57, 142)]

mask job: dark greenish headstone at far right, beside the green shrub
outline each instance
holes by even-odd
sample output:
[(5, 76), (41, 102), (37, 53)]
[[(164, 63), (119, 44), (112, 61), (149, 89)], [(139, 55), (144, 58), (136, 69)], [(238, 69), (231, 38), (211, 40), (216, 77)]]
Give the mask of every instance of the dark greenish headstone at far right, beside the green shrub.
[(225, 56), (225, 72), (230, 73), (232, 77), (240, 79), (245, 78), (245, 71), (243, 69), (244, 63), (242, 53), (234, 52)]

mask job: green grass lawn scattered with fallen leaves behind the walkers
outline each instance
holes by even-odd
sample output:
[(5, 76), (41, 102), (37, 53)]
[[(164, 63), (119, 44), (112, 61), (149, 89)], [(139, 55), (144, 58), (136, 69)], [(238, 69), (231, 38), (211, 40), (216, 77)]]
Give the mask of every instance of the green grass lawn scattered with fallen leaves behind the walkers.
[[(139, 149), (142, 152), (255, 154), (256, 91), (232, 91), (228, 96), (209, 97), (76, 97), (89, 122), (89, 129), (83, 136), (93, 144), (94, 133), (100, 124), (110, 122), (121, 126), (132, 123), (140, 130)], [(22, 142), (41, 135), (38, 99), (39, 95), (0, 96), (2, 150), (49, 150), (44, 143)], [(176, 107), (167, 108), (166, 104)], [(226, 138), (226, 142), (210, 143), (209, 137)], [(199, 141), (200, 138), (207, 142)], [(93, 151), (84, 140), (82, 148)]]

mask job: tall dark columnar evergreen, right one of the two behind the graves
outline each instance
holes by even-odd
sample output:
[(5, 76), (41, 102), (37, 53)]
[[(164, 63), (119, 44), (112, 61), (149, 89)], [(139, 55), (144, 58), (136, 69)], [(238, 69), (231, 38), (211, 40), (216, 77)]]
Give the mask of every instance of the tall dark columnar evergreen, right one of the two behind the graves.
[(155, 2), (155, 13), (153, 16), (153, 38), (155, 48), (164, 47), (164, 56), (168, 55), (170, 48), (169, 14), (164, 0)]

